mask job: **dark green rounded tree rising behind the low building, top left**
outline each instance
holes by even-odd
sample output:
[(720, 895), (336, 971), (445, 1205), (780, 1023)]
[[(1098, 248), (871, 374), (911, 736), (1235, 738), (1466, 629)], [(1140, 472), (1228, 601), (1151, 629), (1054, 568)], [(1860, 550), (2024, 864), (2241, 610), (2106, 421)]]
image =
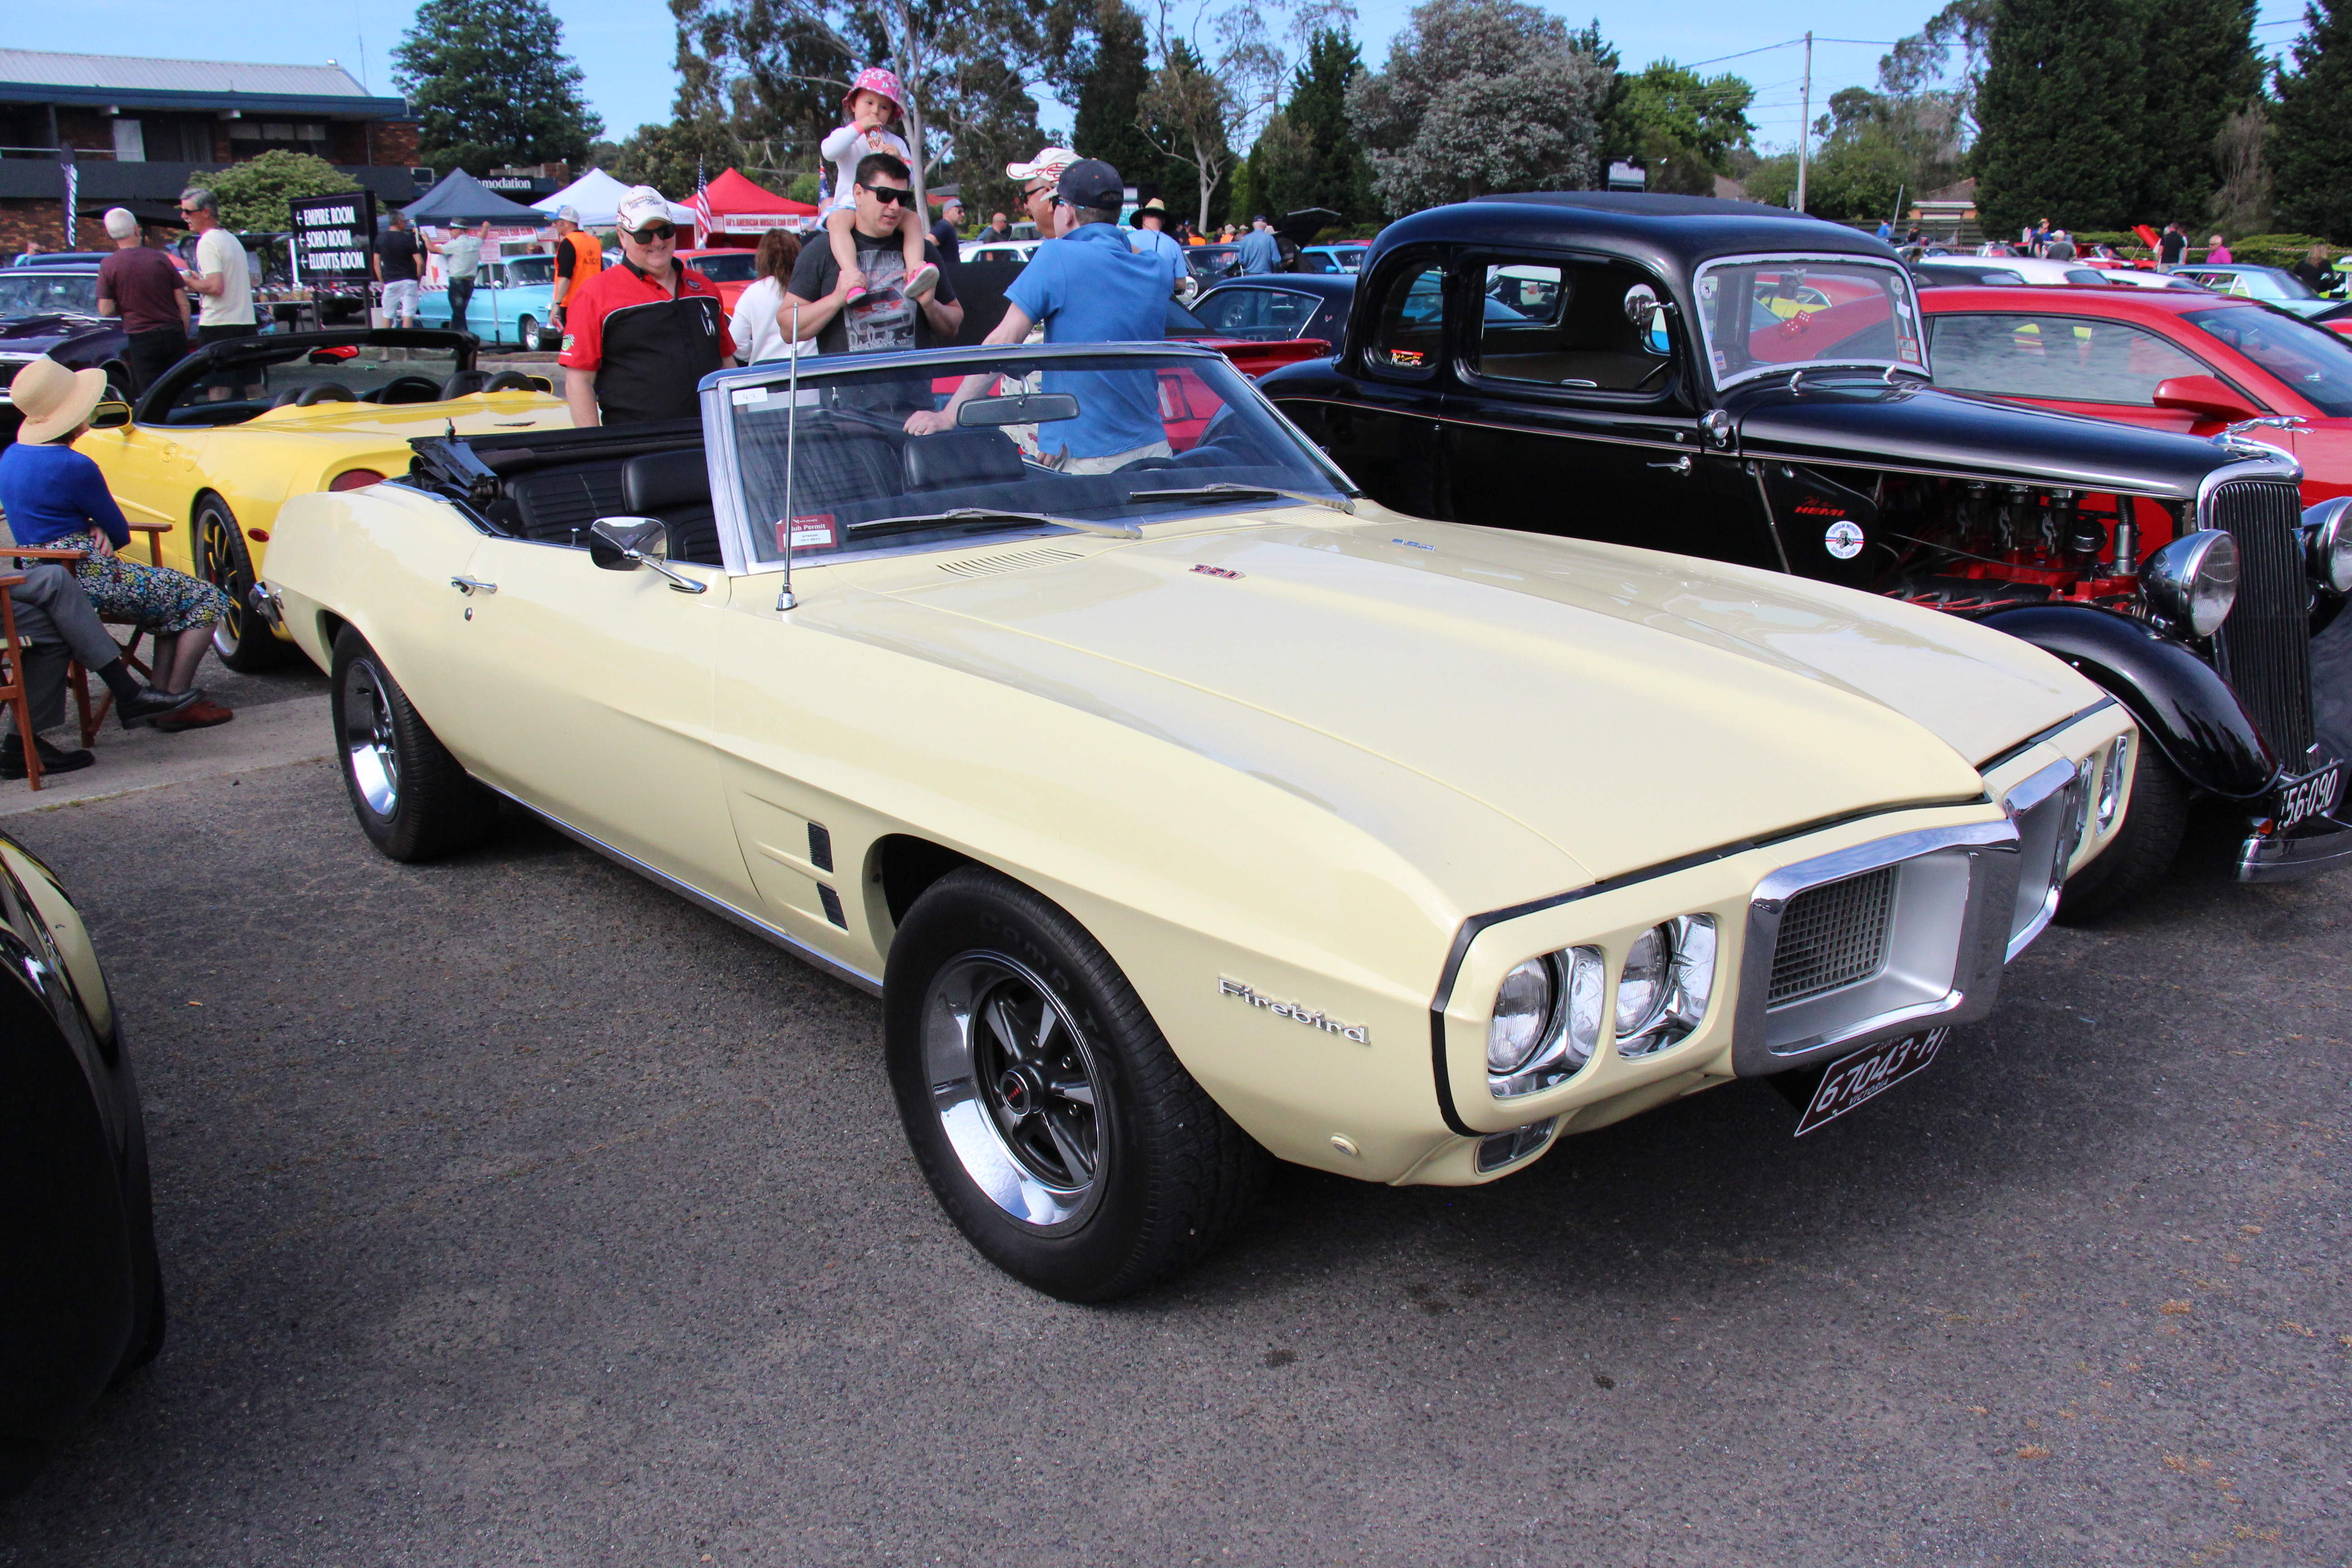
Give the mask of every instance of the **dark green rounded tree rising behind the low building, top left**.
[(576, 165), (604, 132), (546, 0), (423, 0), (393, 80), (416, 106), (423, 160), (445, 174)]

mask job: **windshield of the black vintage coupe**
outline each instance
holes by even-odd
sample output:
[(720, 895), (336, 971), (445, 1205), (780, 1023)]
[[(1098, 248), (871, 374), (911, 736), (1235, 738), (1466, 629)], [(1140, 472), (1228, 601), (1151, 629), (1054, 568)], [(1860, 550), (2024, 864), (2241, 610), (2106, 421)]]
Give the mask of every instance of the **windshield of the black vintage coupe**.
[(1762, 256), (1698, 270), (1715, 386), (1806, 364), (1926, 369), (1910, 275), (1858, 256)]

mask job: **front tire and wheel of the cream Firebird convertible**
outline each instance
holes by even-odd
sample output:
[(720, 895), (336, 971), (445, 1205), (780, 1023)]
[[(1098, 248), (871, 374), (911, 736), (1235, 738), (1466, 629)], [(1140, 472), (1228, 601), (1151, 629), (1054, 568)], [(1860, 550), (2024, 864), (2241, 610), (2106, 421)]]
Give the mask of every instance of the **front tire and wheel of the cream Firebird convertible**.
[(1265, 1152), (1183, 1070), (1101, 943), (1018, 882), (985, 867), (934, 882), (891, 940), (882, 997), (915, 1164), (1021, 1284), (1134, 1295), (1256, 1201)]

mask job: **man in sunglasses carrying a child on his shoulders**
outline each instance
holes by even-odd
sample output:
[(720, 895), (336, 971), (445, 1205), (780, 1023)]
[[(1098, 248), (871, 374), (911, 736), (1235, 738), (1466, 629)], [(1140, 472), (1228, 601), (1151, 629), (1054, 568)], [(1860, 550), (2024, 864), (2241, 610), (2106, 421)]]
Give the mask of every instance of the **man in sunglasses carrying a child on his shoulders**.
[[(891, 153), (868, 153), (856, 169), (856, 212), (849, 242), (856, 247), (866, 292), (854, 301), (842, 287), (842, 263), (830, 244), (802, 247), (793, 282), (783, 292), (776, 324), (793, 336), (793, 310), (800, 310), (800, 339), (816, 339), (821, 355), (866, 355), (953, 343), (964, 327), (964, 306), (946, 273), (938, 287), (920, 301), (906, 294), (906, 242), (901, 223), (917, 223), (915, 188), (908, 167)], [(938, 266), (938, 247), (924, 242), (924, 261)], [(917, 383), (908, 400), (891, 407), (929, 402)]]

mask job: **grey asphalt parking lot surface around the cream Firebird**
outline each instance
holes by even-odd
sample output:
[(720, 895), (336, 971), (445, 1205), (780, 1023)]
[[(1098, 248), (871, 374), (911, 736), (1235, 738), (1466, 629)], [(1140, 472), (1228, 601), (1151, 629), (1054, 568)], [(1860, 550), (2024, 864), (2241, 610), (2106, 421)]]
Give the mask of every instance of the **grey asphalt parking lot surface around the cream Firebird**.
[(2352, 875), (2051, 931), (1802, 1143), (1750, 1084), (1484, 1190), (1284, 1171), (1087, 1309), (934, 1211), (875, 1001), (543, 827), (393, 865), (325, 762), (7, 827), (174, 1321), (0, 1566), (2352, 1556)]

